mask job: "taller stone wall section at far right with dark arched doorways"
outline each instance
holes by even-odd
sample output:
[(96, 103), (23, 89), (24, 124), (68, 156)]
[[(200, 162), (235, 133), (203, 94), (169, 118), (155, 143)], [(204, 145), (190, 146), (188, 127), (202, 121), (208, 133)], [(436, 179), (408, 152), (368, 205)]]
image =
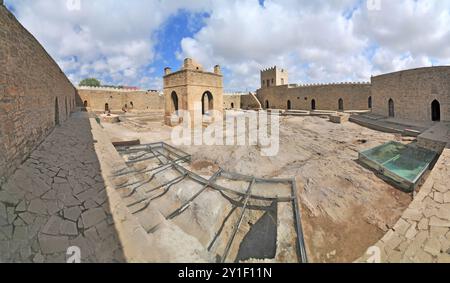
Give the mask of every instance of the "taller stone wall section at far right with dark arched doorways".
[(431, 104), (440, 103), (442, 121), (450, 121), (450, 67), (429, 67), (372, 78), (373, 113), (389, 116), (389, 100), (394, 117), (431, 121)]

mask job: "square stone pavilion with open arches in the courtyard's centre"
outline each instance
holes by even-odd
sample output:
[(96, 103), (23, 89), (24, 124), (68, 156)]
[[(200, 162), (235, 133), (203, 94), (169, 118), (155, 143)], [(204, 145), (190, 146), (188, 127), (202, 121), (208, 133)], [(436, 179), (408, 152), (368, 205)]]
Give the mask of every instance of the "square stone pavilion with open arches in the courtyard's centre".
[[(181, 122), (181, 110), (188, 111), (191, 119), (194, 115), (202, 115), (203, 121), (213, 121), (217, 118), (215, 115), (223, 113), (223, 76), (220, 66), (215, 66), (213, 72), (206, 72), (200, 64), (186, 58), (177, 72), (172, 73), (170, 68), (165, 68), (164, 97), (165, 122), (169, 126)], [(198, 105), (201, 109), (197, 110)]]

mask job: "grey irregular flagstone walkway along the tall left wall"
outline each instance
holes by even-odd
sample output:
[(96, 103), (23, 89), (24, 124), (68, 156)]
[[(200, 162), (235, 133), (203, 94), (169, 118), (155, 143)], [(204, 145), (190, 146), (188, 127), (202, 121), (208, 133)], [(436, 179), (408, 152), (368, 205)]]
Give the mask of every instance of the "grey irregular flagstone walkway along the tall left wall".
[(72, 117), (0, 188), (1, 262), (66, 262), (71, 246), (82, 262), (125, 261), (94, 145)]

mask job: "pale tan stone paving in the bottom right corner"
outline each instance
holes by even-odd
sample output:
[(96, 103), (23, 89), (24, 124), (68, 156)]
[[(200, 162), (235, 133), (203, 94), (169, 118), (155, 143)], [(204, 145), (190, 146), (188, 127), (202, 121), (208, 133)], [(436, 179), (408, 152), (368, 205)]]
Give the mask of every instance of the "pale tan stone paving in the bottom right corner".
[(375, 245), (382, 262), (450, 263), (449, 177), (450, 149), (445, 149), (414, 201)]

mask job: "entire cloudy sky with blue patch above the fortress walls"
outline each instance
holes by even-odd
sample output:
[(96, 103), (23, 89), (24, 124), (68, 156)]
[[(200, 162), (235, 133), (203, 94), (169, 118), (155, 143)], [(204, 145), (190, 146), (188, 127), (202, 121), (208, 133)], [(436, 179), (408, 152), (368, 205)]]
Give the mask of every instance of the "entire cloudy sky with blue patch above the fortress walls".
[(5, 3), (75, 84), (160, 89), (164, 67), (185, 57), (220, 64), (228, 91), (255, 90), (274, 65), (290, 83), (311, 83), (450, 64), (450, 0)]

